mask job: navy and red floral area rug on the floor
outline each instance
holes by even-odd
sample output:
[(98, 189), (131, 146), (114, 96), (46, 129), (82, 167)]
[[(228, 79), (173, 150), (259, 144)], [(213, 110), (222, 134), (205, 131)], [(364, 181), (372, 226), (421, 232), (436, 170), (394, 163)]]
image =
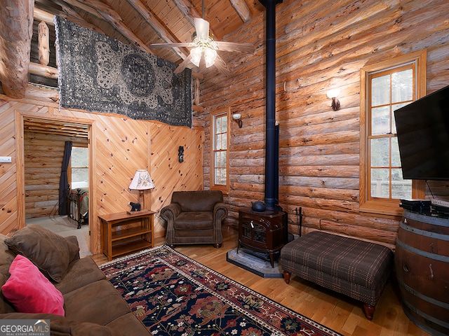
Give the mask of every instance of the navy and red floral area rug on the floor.
[(100, 269), (153, 335), (340, 335), (168, 246)]

